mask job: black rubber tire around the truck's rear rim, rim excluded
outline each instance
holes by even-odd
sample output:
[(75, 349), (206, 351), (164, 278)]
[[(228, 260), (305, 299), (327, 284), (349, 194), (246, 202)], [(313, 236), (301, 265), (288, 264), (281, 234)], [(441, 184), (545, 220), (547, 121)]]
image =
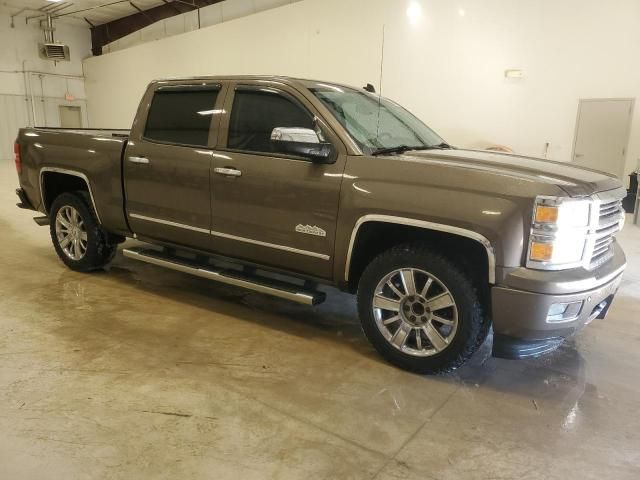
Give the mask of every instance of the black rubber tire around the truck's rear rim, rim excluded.
[[(72, 207), (80, 215), (86, 230), (86, 251), (82, 258), (74, 260), (67, 255), (58, 241), (56, 232), (56, 216), (63, 207)], [(85, 192), (62, 193), (51, 205), (49, 211), (50, 233), (53, 246), (60, 260), (71, 270), (77, 272), (91, 272), (108, 265), (116, 254), (117, 243), (110, 241), (109, 235), (102, 230), (96, 214), (91, 206), (91, 200)]]

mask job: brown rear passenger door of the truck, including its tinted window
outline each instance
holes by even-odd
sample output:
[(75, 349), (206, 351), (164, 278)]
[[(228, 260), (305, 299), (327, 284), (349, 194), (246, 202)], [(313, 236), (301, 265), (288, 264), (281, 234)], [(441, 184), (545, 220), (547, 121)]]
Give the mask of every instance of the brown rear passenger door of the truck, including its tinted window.
[(212, 146), (224, 85), (160, 82), (145, 94), (124, 155), (129, 225), (139, 237), (211, 246)]

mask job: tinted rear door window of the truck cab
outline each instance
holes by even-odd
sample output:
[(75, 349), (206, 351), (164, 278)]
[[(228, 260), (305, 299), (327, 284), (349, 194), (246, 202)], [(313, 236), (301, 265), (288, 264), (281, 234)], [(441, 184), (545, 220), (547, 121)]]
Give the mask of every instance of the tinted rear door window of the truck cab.
[(217, 97), (218, 89), (156, 92), (147, 117), (145, 138), (206, 146)]

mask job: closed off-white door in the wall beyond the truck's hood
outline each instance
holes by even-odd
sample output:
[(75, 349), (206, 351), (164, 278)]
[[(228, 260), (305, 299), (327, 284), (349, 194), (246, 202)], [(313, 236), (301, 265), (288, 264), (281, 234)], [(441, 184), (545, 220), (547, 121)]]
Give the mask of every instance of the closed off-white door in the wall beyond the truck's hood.
[(630, 98), (580, 100), (573, 161), (622, 178), (632, 114)]

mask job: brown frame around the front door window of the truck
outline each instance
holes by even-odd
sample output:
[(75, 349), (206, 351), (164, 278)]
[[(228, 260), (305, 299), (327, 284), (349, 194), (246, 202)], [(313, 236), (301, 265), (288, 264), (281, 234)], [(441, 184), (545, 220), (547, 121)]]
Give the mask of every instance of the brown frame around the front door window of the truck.
[(310, 104), (307, 99), (302, 95), (296, 95), (297, 91), (290, 88), (288, 85), (280, 84), (280, 83), (272, 83), (272, 82), (260, 82), (260, 83), (250, 83), (250, 82), (236, 82), (229, 87), (229, 93), (227, 94), (227, 98), (224, 103), (224, 119), (220, 125), (220, 135), (218, 136), (218, 145), (216, 147), (217, 151), (221, 152), (231, 152), (231, 153), (240, 153), (244, 155), (255, 155), (260, 157), (270, 157), (270, 158), (282, 158), (285, 160), (297, 160), (303, 161), (307, 163), (313, 163), (313, 160), (303, 157), (300, 155), (291, 155), (287, 153), (278, 153), (278, 152), (260, 152), (254, 150), (242, 150), (237, 148), (229, 148), (229, 129), (231, 127), (231, 115), (233, 115), (233, 104), (236, 98), (236, 92), (240, 91), (259, 91), (268, 89), (273, 91), (273, 93), (277, 95), (281, 95), (282, 97), (290, 100), (295, 105), (298, 105), (304, 111), (306, 111), (309, 116), (314, 120), (314, 122), (318, 123), (319, 128), (322, 130), (322, 133), (325, 136), (325, 142), (331, 143), (334, 148), (337, 148), (336, 142), (336, 134), (331, 130), (331, 128), (327, 125), (327, 123), (322, 119), (322, 117), (315, 110), (314, 106)]

